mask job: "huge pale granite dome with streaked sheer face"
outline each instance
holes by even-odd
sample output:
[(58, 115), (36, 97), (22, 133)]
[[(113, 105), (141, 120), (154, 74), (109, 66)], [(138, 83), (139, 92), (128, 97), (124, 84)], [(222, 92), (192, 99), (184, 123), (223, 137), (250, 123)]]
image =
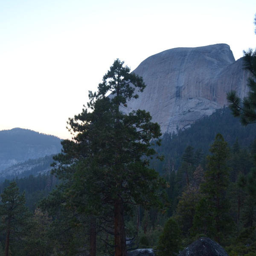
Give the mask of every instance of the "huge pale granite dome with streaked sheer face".
[(162, 133), (188, 128), (227, 105), (226, 93), (246, 96), (247, 72), (227, 44), (175, 48), (145, 59), (135, 70), (147, 87), (129, 110), (145, 109)]

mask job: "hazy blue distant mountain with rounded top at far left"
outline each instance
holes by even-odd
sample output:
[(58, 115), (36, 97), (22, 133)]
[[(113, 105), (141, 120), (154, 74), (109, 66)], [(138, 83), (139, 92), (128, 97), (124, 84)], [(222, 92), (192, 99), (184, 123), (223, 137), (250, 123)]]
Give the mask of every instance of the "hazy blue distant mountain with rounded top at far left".
[(61, 139), (28, 129), (0, 131), (0, 171), (61, 151)]

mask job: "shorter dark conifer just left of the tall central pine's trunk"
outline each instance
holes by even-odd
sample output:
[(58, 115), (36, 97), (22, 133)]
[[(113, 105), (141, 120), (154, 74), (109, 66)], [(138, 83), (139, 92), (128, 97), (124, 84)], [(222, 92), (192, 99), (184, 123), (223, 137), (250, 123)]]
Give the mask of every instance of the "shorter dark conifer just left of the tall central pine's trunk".
[(50, 240), (55, 241), (54, 250), (69, 256), (90, 250), (87, 242), (90, 241), (90, 218), (81, 212), (86, 202), (81, 195), (78, 206), (79, 195), (72, 189), (72, 184), (71, 177), (69, 181), (66, 177), (40, 202), (41, 209), (54, 217), (47, 228)]

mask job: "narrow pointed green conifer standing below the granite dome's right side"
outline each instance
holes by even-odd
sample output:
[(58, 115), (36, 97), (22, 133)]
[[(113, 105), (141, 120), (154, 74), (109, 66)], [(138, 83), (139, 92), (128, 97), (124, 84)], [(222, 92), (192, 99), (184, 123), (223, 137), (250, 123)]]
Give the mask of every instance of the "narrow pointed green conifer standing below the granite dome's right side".
[(215, 241), (220, 242), (221, 236), (230, 231), (232, 224), (228, 214), (229, 203), (225, 198), (229, 185), (230, 171), (227, 159), (230, 153), (221, 134), (216, 135), (209, 151), (212, 154), (207, 156), (205, 182), (201, 184), (201, 192), (205, 196), (198, 204), (194, 228), (198, 229), (199, 233), (207, 233), (206, 235), (213, 236)]

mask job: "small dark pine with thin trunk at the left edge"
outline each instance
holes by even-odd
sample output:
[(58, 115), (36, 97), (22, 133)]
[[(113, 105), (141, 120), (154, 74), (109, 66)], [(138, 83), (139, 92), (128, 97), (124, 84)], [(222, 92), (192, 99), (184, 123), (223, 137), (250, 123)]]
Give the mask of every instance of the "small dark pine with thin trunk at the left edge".
[(10, 237), (20, 240), (27, 232), (29, 212), (25, 207), (25, 193), (20, 195), (16, 182), (11, 182), (0, 197), (1, 230), (6, 232), (5, 256), (8, 256)]

